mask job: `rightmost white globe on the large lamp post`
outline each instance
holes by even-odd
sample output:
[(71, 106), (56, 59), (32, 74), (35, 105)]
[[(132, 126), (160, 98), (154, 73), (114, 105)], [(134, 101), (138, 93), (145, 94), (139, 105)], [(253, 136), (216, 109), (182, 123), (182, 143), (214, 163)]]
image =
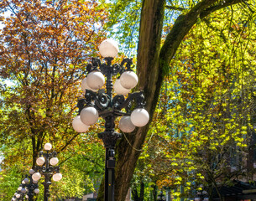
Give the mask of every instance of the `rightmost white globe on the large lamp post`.
[(143, 108), (135, 109), (131, 114), (131, 121), (134, 126), (142, 127), (149, 122), (149, 113)]

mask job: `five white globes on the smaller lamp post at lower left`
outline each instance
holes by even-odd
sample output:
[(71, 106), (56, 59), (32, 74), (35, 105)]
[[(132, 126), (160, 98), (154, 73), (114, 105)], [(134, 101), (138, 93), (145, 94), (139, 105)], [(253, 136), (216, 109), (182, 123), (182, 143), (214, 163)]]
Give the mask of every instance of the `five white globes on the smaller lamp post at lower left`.
[[(44, 144), (44, 149), (45, 149), (47, 152), (49, 152), (49, 151), (51, 150), (51, 148), (52, 148), (52, 145), (51, 145), (50, 143)], [(45, 162), (44, 157), (38, 157), (38, 158), (36, 159), (36, 164), (37, 164), (38, 166), (43, 166), (43, 165), (44, 165), (44, 162)], [(59, 159), (58, 159), (57, 157), (51, 157), (51, 158), (50, 158), (50, 165), (51, 165), (51, 166), (57, 165), (58, 162), (59, 162)], [(34, 170), (31, 170), (31, 171), (34, 171)], [(38, 182), (39, 179), (41, 178), (41, 174), (40, 174), (40, 173), (33, 173), (32, 178), (33, 178), (33, 180), (34, 180), (35, 182)], [(61, 173), (55, 173), (55, 174), (53, 175), (53, 177), (52, 177), (52, 179), (53, 179), (55, 182), (59, 182), (61, 178), (62, 178)]]

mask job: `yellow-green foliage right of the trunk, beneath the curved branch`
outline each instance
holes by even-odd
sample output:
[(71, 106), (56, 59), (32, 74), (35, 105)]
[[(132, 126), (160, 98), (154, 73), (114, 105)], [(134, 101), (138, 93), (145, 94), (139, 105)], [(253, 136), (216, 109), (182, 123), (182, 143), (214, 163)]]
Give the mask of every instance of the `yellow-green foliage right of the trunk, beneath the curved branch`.
[(255, 16), (229, 10), (198, 22), (170, 63), (146, 146), (159, 188), (183, 185), (191, 196), (202, 183), (212, 195), (217, 183), (252, 178), (244, 170), (255, 123)]

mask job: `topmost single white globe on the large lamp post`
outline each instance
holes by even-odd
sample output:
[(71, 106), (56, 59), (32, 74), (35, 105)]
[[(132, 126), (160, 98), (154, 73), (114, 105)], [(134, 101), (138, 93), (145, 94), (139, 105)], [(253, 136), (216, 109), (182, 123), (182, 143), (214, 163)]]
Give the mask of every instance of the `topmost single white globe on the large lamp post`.
[(118, 43), (112, 39), (106, 39), (102, 41), (99, 46), (99, 51), (102, 57), (112, 57), (114, 58), (118, 54)]

